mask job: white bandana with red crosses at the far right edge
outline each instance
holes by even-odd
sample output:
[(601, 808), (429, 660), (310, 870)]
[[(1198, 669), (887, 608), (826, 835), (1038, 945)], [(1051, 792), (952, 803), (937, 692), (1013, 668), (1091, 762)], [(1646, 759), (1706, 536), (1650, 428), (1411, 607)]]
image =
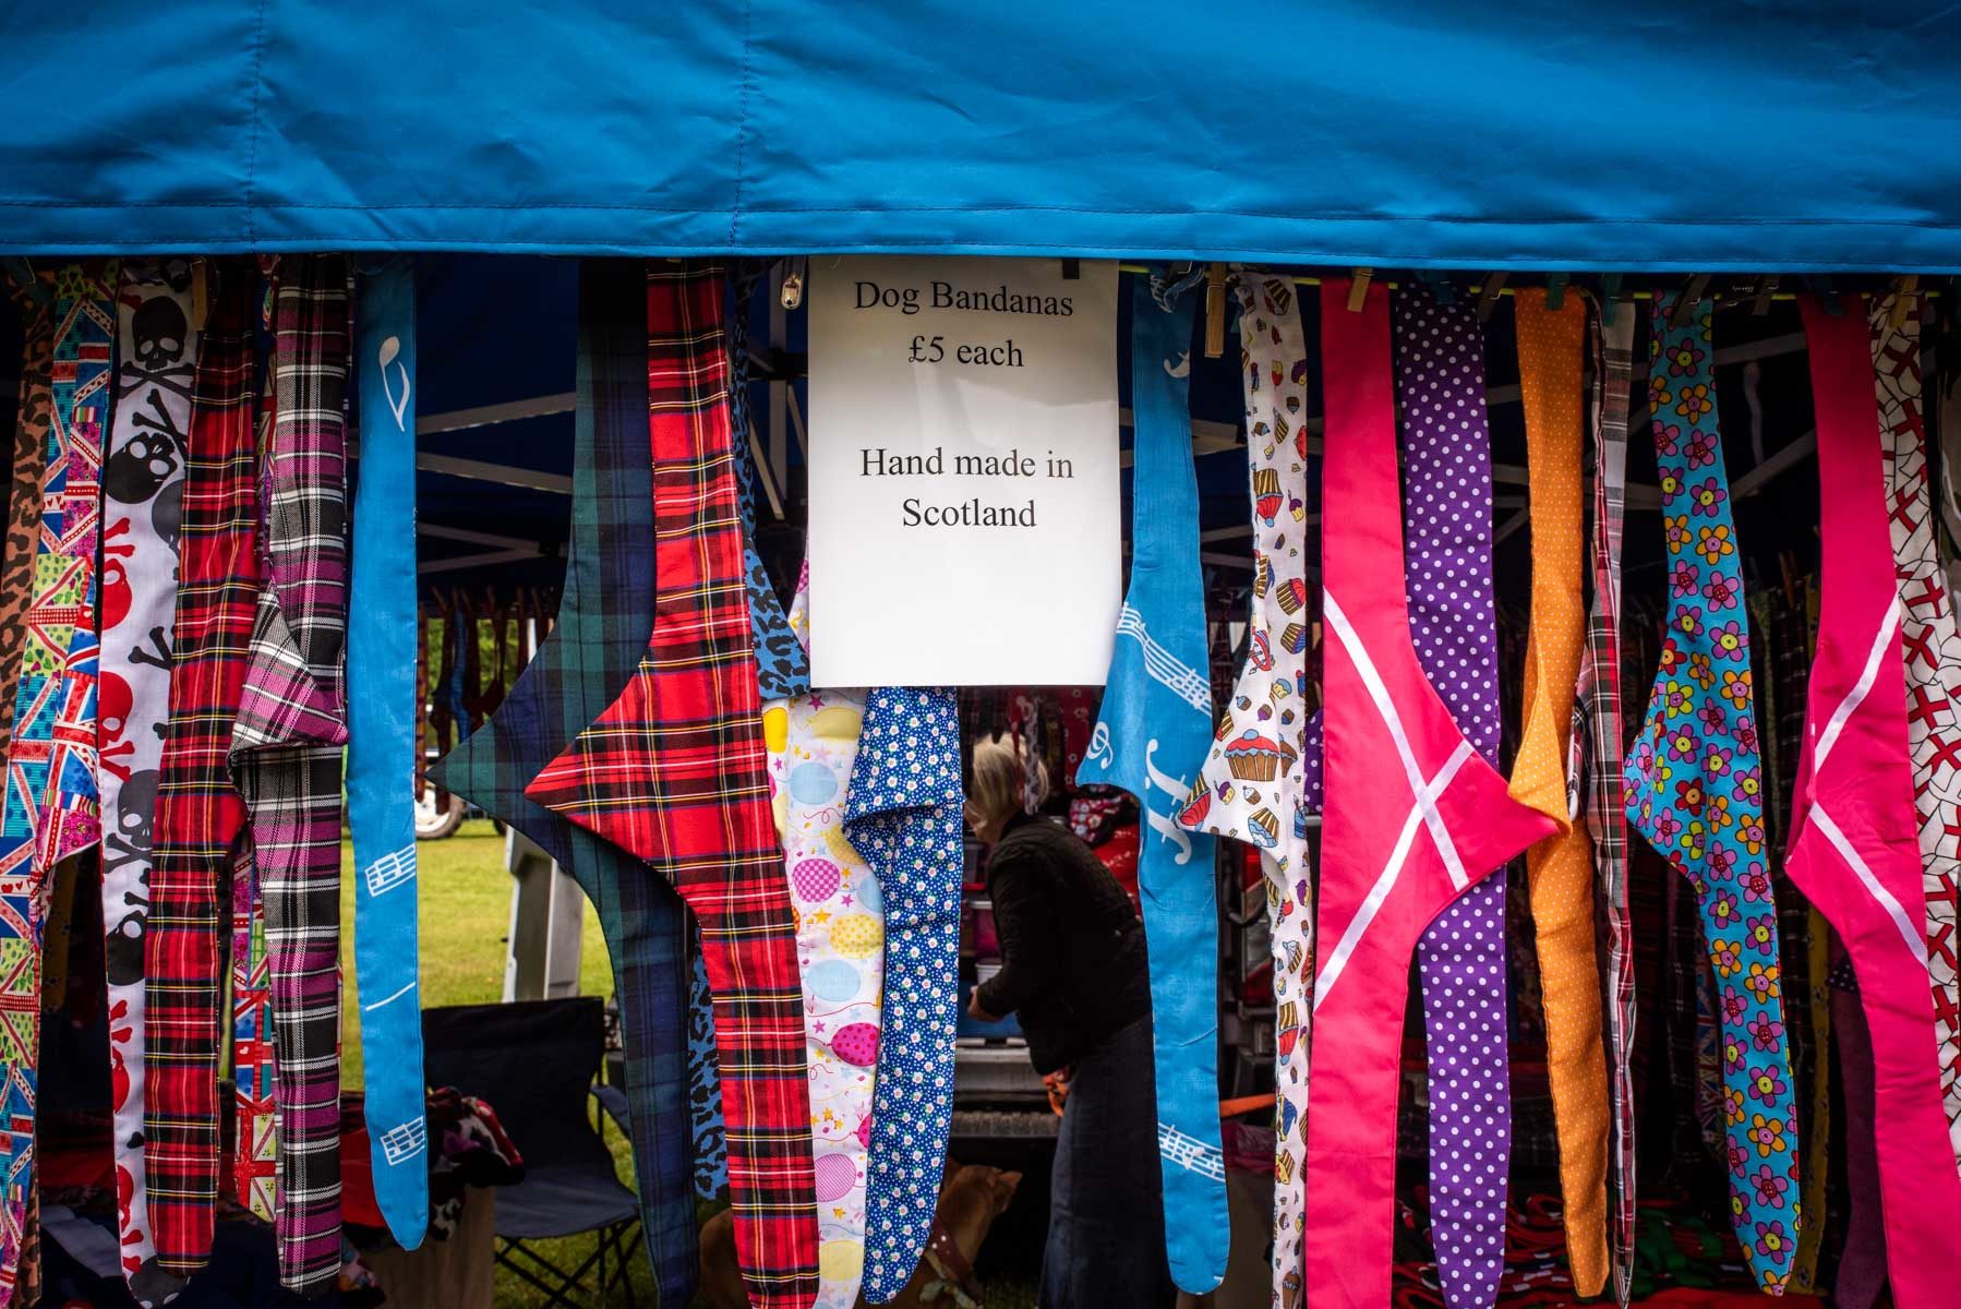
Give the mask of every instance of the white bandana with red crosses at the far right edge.
[[(1898, 318), (1898, 324), (1894, 324)], [(1920, 418), (1920, 306), (1873, 304), (1879, 438), (1886, 451), (1892, 565), (1906, 650), (1906, 740), (1914, 752), (1914, 807), (1928, 901), (1928, 971), (1941, 1048), (1947, 1140), (1961, 1164), (1961, 979), (1955, 975), (1955, 903), (1961, 895), (1961, 630), (1934, 551), (1926, 428)]]

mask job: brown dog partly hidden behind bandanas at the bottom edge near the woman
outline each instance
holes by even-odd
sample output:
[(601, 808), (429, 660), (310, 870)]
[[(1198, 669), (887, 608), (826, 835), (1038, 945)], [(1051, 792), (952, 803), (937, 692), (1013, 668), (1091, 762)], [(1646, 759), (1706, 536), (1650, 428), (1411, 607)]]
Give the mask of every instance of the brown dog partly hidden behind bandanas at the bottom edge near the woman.
[[(1022, 1174), (1008, 1174), (984, 1164), (959, 1166), (947, 1160), (939, 1183), (939, 1205), (933, 1209), (933, 1240), (926, 1258), (912, 1270), (912, 1280), (890, 1309), (965, 1309), (977, 1305), (979, 1287), (973, 1262), (980, 1254), (986, 1232), (1008, 1209)], [(702, 1303), (710, 1309), (749, 1309), (749, 1293), (735, 1266), (735, 1215), (728, 1209), (702, 1223)], [(865, 1297), (859, 1295), (859, 1309)]]

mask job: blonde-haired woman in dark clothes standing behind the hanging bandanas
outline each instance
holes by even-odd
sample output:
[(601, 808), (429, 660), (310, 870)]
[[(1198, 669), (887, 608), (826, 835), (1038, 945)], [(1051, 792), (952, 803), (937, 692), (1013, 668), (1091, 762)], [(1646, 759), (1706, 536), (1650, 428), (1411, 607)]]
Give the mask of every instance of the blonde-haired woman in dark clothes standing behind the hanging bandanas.
[(1067, 1072), (1037, 1303), (1155, 1309), (1173, 1289), (1143, 926), (1090, 848), (1033, 814), (1047, 789), (1047, 771), (1018, 742), (975, 748), (967, 822), (988, 846), (1002, 968), (969, 1011), (1018, 1015), (1035, 1072)]

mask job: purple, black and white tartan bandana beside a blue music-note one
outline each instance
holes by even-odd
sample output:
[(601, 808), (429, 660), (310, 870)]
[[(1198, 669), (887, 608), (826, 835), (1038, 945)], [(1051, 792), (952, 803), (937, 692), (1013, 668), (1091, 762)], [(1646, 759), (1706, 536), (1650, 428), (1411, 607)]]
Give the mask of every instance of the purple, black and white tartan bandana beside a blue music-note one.
[[(284, 257), (273, 300), (273, 438), (261, 469), (267, 575), (231, 726), (231, 771), (257, 852), (257, 944), (273, 1005), (273, 1040), (265, 1044), (261, 1028), (251, 1048), (265, 1056), (261, 1077), (273, 1081), (247, 1087), (239, 1079), (235, 1170), (239, 1199), (251, 1203), (261, 1146), (277, 1136), (280, 1282), (298, 1291), (327, 1289), (341, 1266), (349, 332), (345, 257)], [(233, 997), (233, 1007), (253, 1001)], [(237, 1052), (233, 1064), (243, 1064)], [(257, 1121), (269, 1111), (277, 1132)]]

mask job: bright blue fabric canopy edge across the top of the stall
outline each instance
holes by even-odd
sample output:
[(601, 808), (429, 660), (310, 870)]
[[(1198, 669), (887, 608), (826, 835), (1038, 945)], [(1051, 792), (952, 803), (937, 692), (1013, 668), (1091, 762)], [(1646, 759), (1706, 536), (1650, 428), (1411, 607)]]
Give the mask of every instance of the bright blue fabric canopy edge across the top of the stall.
[(12, 4), (0, 253), (1957, 271), (1957, 14)]

